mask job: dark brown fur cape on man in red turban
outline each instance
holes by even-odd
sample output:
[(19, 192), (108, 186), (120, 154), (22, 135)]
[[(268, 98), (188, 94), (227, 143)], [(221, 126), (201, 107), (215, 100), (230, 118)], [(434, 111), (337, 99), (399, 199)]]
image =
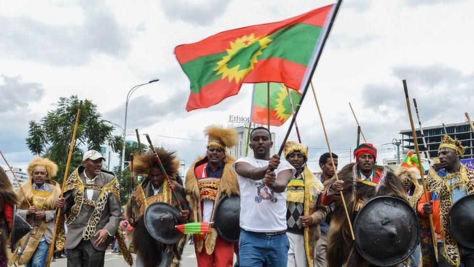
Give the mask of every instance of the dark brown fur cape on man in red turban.
[[(354, 184), (353, 167), (355, 163), (344, 166), (338, 177), (344, 181), (342, 193), (347, 205), (349, 216), (354, 221), (354, 207), (358, 199), (370, 200), (375, 196), (395, 196), (406, 200), (406, 191), (400, 179), (388, 172), (378, 191), (375, 187), (356, 182)], [(382, 166), (375, 166), (374, 171), (383, 170)], [(326, 189), (336, 180), (336, 177), (324, 182)], [(382, 179), (381, 179), (382, 180)], [(353, 193), (355, 186), (356, 193)], [(355, 250), (355, 243), (351, 238), (349, 224), (339, 194), (333, 196), (335, 208), (331, 214), (331, 225), (327, 240), (327, 265), (328, 267), (363, 267), (370, 266)]]

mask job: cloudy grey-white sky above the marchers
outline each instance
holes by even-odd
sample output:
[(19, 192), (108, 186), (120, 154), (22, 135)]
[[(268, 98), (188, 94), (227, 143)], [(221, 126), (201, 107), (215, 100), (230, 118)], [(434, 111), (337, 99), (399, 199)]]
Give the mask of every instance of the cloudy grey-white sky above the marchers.
[[(98, 105), (123, 125), (127, 91), (128, 139), (134, 129), (155, 145), (178, 151), (187, 165), (204, 152), (206, 125), (227, 125), (250, 114), (251, 89), (207, 109), (186, 112), (189, 81), (173, 49), (218, 32), (290, 18), (328, 0), (2, 1), (0, 6), (0, 148), (25, 167), (33, 155), (25, 138), (61, 96)], [(474, 114), (473, 0), (347, 0), (313, 76), (339, 162), (355, 146), (351, 102), (379, 163), (391, 158), (393, 138), (409, 128), (402, 79), (417, 98), (423, 126), (465, 121)], [(277, 148), (288, 124), (272, 127)], [(310, 167), (327, 151), (314, 98), (306, 97), (298, 124), (310, 147)], [(117, 129), (116, 134), (121, 131)], [(296, 135), (292, 133), (291, 139)], [(113, 159), (112, 162), (117, 163)], [(5, 166), (3, 162), (0, 163)]]

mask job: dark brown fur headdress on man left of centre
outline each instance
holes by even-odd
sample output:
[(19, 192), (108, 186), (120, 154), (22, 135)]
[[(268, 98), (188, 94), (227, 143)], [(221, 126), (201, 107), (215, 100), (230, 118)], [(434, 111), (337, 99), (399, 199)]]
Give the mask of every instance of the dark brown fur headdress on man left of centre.
[[(176, 152), (164, 148), (155, 148), (160, 157), (161, 163), (165, 168), (169, 178), (174, 179), (178, 174), (179, 160), (176, 158)], [(134, 157), (134, 174), (148, 177), (152, 168), (160, 168), (158, 161), (153, 153), (141, 154)]]

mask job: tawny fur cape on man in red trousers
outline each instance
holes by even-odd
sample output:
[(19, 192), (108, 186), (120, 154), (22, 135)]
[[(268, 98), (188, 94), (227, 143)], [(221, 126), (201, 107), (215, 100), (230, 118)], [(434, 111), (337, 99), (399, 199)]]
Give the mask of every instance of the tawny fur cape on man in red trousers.
[[(224, 170), (222, 172), (222, 178), (220, 180), (220, 185), (218, 189), (218, 197), (219, 199), (223, 196), (232, 196), (232, 195), (240, 195), (238, 181), (237, 181), (237, 174), (232, 168), (232, 164), (236, 159), (229, 155), (228, 153), (225, 154), (225, 158), (223, 160), (224, 163)], [(191, 215), (192, 220), (194, 222), (199, 222), (198, 218), (198, 206), (200, 206), (200, 192), (198, 188), (198, 179), (196, 177), (196, 167), (204, 164), (207, 162), (207, 158), (199, 157), (196, 161), (193, 162), (191, 165), (192, 167), (186, 173), (186, 200), (189, 203), (191, 208)], [(199, 202), (199, 203), (198, 203)], [(219, 200), (216, 199), (214, 202), (213, 213), (217, 207)], [(212, 218), (211, 218), (212, 220)], [(218, 233), (214, 228), (210, 228), (207, 236), (203, 240), (196, 241), (196, 248), (198, 252), (203, 250), (203, 245), (205, 245), (207, 254), (211, 255), (214, 252), (214, 246), (216, 245)]]

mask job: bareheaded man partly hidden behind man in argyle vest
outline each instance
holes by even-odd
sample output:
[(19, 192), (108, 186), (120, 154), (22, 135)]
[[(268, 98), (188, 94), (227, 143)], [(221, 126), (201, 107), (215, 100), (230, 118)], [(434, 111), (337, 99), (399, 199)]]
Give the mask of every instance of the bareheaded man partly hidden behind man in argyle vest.
[[(338, 169), (338, 155), (332, 153), (334, 165), (336, 170)], [(334, 176), (333, 162), (329, 152), (326, 152), (321, 155), (319, 158), (319, 167), (322, 170), (322, 173), (318, 178), (322, 183), (329, 180)], [(321, 200), (320, 200), (321, 201)], [(331, 223), (331, 213), (335, 208), (335, 204), (332, 203), (326, 207), (326, 218), (321, 222), (321, 235), (316, 242), (316, 248), (314, 249), (314, 266), (316, 267), (326, 267), (326, 250), (327, 250), (327, 234), (329, 233), (329, 224)]]

